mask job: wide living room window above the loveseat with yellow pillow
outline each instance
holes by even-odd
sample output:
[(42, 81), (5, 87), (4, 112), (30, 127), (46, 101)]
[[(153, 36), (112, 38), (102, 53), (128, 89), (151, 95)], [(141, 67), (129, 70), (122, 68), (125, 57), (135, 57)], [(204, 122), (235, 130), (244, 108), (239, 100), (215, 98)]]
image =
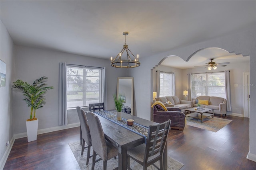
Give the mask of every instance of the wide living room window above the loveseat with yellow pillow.
[(191, 75), (192, 98), (198, 96), (217, 96), (226, 98), (224, 72)]

